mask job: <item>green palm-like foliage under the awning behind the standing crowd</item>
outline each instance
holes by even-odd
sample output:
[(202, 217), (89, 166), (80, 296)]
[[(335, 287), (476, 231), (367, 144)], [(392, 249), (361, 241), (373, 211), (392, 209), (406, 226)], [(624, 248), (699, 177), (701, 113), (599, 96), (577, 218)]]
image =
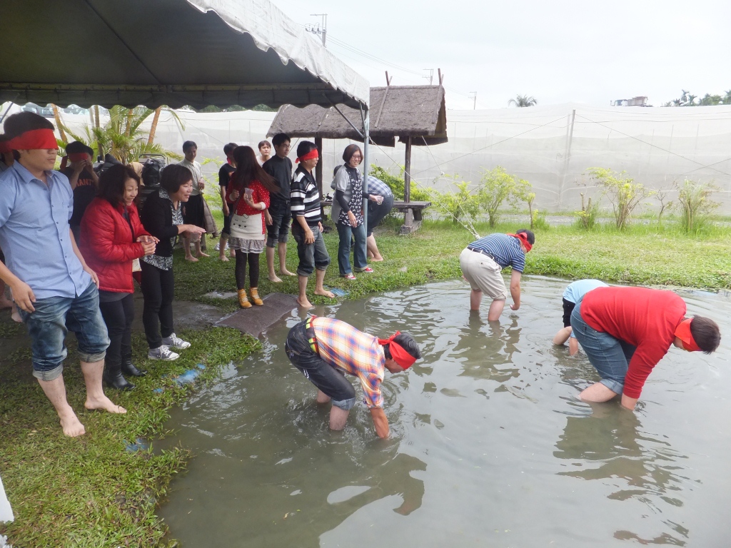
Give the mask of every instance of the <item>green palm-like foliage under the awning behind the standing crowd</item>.
[[(183, 124), (175, 111), (165, 109), (173, 113), (173, 116), (181, 128)], [(95, 155), (112, 154), (123, 164), (137, 161), (142, 154), (164, 154), (173, 159), (182, 159), (182, 156), (172, 151), (167, 151), (158, 144), (149, 144), (149, 132), (141, 129), (144, 121), (155, 111), (147, 107), (135, 107), (129, 109), (119, 105), (110, 108), (109, 120), (103, 127), (95, 127), (87, 124), (84, 126), (83, 134), (75, 134), (64, 126), (64, 130), (74, 140), (81, 141), (94, 149)]]

